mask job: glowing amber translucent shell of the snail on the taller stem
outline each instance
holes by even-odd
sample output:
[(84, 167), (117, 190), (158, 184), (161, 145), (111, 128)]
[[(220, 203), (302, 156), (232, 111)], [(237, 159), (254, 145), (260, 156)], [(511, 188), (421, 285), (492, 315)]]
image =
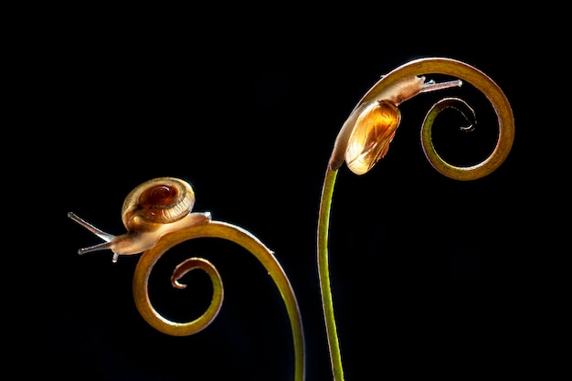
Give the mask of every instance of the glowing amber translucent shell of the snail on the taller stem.
[(375, 101), (360, 112), (345, 150), (345, 164), (355, 175), (364, 175), (386, 155), (400, 121), (393, 101)]

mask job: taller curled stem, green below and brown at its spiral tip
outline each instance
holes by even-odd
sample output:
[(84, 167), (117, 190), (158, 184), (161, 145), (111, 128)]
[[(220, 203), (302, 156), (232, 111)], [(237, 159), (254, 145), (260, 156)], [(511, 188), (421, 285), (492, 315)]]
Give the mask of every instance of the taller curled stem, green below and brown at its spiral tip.
[[(481, 70), (464, 62), (451, 58), (419, 58), (392, 70), (386, 76), (379, 79), (368, 90), (363, 98), (357, 103), (350, 118), (355, 117), (355, 111), (365, 102), (378, 99), (385, 90), (396, 85), (398, 82), (427, 74), (443, 74), (462, 79), (471, 83), (477, 90), (491, 102), (497, 116), (499, 134), (493, 153), (481, 163), (472, 166), (455, 166), (443, 160), (435, 150), (431, 141), (431, 128), (435, 118), (453, 102), (460, 101), (441, 100), (429, 110), (421, 128), (421, 145), (431, 164), (440, 174), (456, 180), (476, 180), (495, 171), (508, 156), (514, 142), (514, 115), (509, 101), (503, 90)], [(461, 101), (464, 103), (464, 101)], [(464, 103), (466, 105), (466, 103)], [(467, 105), (468, 107), (468, 105)], [(348, 120), (350, 119), (348, 118)], [(350, 124), (351, 125), (351, 124)], [(335, 381), (344, 380), (344, 368), (342, 364), (341, 349), (337, 334), (334, 317), (334, 300), (330, 283), (329, 259), (328, 259), (328, 230), (330, 226), (330, 212), (334, 196), (334, 185), (338, 169), (344, 164), (344, 151), (347, 146), (347, 138), (351, 130), (343, 129), (334, 144), (333, 152), (328, 162), (323, 181), (322, 198), (318, 217), (317, 231), (317, 263), (320, 275), (320, 290), (322, 293), (323, 316), (330, 350), (332, 373)]]

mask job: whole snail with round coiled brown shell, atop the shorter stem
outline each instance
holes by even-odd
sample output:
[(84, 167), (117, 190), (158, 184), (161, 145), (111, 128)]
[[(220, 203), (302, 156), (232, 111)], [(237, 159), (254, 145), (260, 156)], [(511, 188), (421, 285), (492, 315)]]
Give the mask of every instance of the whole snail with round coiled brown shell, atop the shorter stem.
[(135, 187), (122, 206), (122, 221), (127, 233), (113, 236), (69, 212), (68, 217), (105, 242), (79, 254), (111, 249), (113, 261), (119, 255), (138, 254), (151, 249), (165, 234), (210, 221), (210, 213), (191, 213), (195, 192), (191, 185), (174, 177), (158, 177)]

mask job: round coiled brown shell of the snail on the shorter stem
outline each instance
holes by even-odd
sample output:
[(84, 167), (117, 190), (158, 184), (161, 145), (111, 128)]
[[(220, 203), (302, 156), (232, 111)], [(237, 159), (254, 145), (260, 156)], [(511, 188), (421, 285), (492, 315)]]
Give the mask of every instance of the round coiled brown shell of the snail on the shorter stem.
[[(166, 224), (187, 216), (195, 205), (191, 185), (173, 177), (159, 177), (137, 186), (125, 197), (122, 221), (125, 228), (141, 222)], [(143, 220), (143, 221), (142, 221)]]

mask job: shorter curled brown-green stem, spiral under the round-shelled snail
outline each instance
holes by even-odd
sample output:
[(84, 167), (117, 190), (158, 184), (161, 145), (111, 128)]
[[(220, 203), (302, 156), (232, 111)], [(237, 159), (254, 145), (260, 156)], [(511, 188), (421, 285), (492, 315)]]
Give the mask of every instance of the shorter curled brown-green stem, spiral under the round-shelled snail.
[(302, 317), (290, 280), (284, 270), (282, 270), (280, 263), (274, 257), (272, 251), (266, 248), (258, 238), (243, 228), (238, 228), (237, 226), (225, 222), (210, 221), (206, 224), (169, 233), (161, 238), (153, 248), (144, 251), (137, 262), (132, 283), (135, 304), (142, 314), (143, 319), (162, 333), (183, 336), (201, 331), (217, 316), (223, 299), (222, 281), (220, 280), (217, 270), (205, 259), (187, 259), (175, 269), (173, 276), (173, 282), (175, 284), (175, 281), (188, 270), (199, 268), (207, 271), (207, 274), (213, 281), (213, 298), (207, 308), (207, 312), (202, 316), (192, 322), (175, 323), (165, 319), (164, 316), (159, 314), (149, 299), (149, 276), (154, 268), (154, 264), (161, 258), (165, 251), (185, 240), (193, 238), (227, 239), (249, 250), (250, 253), (259, 259), (260, 263), (268, 271), (270, 277), (277, 285), (286, 305), (286, 310), (291, 322), (294, 346), (294, 379), (296, 381), (302, 381), (305, 376), (305, 348)]

